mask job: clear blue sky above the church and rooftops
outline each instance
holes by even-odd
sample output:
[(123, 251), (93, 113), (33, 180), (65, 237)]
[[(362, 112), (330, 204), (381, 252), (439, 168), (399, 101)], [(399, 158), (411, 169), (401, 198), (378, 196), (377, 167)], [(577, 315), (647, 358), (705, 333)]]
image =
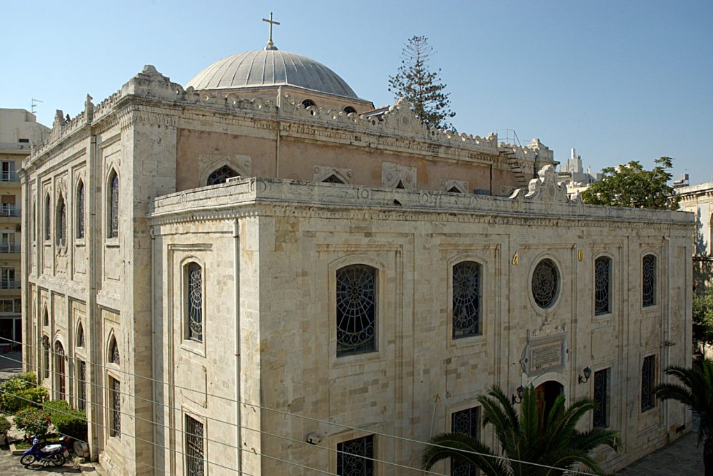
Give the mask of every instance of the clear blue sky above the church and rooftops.
[(342, 76), (376, 106), (401, 47), (428, 36), (458, 131), (514, 129), (560, 161), (598, 171), (674, 157), (692, 183), (713, 173), (713, 1), (2, 2), (0, 107), (71, 116), (144, 64), (186, 83), (213, 61), (275, 44)]

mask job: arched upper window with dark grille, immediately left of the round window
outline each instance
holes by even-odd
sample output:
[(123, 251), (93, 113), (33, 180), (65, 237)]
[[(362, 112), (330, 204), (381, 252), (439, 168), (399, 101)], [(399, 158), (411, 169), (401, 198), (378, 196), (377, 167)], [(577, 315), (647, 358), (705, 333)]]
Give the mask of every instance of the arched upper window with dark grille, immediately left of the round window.
[(481, 333), (481, 265), (453, 266), (453, 338)]

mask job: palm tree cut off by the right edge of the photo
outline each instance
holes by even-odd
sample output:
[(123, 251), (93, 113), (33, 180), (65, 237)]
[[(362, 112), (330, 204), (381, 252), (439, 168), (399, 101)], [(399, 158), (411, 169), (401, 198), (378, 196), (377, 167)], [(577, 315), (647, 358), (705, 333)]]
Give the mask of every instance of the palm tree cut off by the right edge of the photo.
[(705, 476), (713, 476), (713, 362), (704, 360), (693, 368), (672, 365), (666, 369), (666, 374), (677, 378), (683, 385), (662, 383), (656, 385), (654, 392), (661, 400), (677, 400), (699, 415), (698, 444), (705, 437)]

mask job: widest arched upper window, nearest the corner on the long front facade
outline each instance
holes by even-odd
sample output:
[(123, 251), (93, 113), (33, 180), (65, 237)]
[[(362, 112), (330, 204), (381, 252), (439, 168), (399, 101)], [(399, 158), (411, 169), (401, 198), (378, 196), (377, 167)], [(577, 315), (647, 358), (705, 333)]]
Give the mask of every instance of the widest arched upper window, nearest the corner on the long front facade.
[(337, 357), (376, 350), (376, 269), (337, 270)]

